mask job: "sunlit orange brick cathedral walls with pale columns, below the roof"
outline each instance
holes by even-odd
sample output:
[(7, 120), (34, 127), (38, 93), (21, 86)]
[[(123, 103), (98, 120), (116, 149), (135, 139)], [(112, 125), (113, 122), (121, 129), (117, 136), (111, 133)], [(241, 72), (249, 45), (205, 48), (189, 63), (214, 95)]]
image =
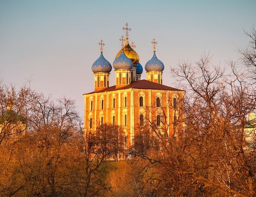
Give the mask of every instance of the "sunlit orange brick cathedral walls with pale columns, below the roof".
[[(122, 126), (127, 134), (127, 147), (129, 148), (133, 145), (134, 137), (139, 132), (140, 115), (143, 115), (144, 125), (148, 123), (157, 125), (157, 115), (160, 115), (163, 123), (161, 121), (159, 128), (166, 130), (171, 136), (175, 115), (173, 98), (180, 99), (179, 94), (170, 90), (125, 89), (84, 95), (85, 131), (90, 130), (90, 118), (92, 118), (91, 130), (96, 130), (97, 126), (101, 124), (101, 117), (103, 123), (112, 124), (113, 116), (115, 116), (115, 124)], [(142, 97), (141, 101), (140, 97)], [(157, 97), (159, 97), (159, 107), (157, 107)], [(143, 106), (140, 106), (142, 101)], [(91, 102), (93, 103), (92, 108)]]

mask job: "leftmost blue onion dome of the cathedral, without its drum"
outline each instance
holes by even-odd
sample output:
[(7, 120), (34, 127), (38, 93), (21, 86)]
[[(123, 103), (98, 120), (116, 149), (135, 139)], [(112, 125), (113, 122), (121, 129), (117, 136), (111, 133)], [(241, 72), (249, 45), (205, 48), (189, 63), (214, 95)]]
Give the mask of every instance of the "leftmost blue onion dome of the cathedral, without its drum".
[(110, 72), (111, 70), (111, 64), (104, 58), (101, 51), (99, 58), (92, 64), (92, 72)]

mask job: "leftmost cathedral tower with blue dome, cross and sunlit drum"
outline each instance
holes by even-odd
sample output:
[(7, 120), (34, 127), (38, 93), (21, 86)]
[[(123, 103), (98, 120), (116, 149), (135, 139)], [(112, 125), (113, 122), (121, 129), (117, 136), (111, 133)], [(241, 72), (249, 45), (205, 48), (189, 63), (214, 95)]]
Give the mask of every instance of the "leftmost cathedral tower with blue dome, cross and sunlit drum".
[(109, 87), (109, 76), (112, 70), (111, 64), (103, 56), (102, 47), (105, 45), (103, 41), (99, 43), (101, 45), (101, 55), (92, 64), (92, 72), (94, 72), (94, 90), (103, 90)]

